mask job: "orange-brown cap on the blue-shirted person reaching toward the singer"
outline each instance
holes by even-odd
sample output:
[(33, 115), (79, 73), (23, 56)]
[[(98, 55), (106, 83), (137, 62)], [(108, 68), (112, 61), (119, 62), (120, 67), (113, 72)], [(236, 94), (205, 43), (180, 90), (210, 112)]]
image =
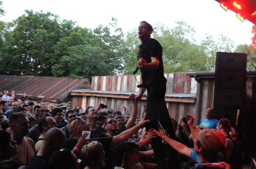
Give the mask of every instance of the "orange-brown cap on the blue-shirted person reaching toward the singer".
[(207, 152), (218, 152), (222, 147), (221, 140), (215, 130), (195, 128), (192, 134)]

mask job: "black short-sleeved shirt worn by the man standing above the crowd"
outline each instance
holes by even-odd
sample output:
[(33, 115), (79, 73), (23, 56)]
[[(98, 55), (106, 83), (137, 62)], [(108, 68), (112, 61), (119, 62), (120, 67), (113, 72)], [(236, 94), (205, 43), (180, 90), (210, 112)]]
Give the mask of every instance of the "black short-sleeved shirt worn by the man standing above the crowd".
[(159, 67), (156, 69), (140, 69), (141, 77), (143, 80), (143, 85), (146, 87), (151, 84), (156, 84), (158, 82), (164, 81), (163, 76), (163, 58), (162, 58), (163, 48), (156, 39), (149, 38), (142, 45), (140, 45), (140, 50), (137, 59), (143, 58), (146, 63), (151, 63), (151, 57), (157, 57), (159, 59)]

